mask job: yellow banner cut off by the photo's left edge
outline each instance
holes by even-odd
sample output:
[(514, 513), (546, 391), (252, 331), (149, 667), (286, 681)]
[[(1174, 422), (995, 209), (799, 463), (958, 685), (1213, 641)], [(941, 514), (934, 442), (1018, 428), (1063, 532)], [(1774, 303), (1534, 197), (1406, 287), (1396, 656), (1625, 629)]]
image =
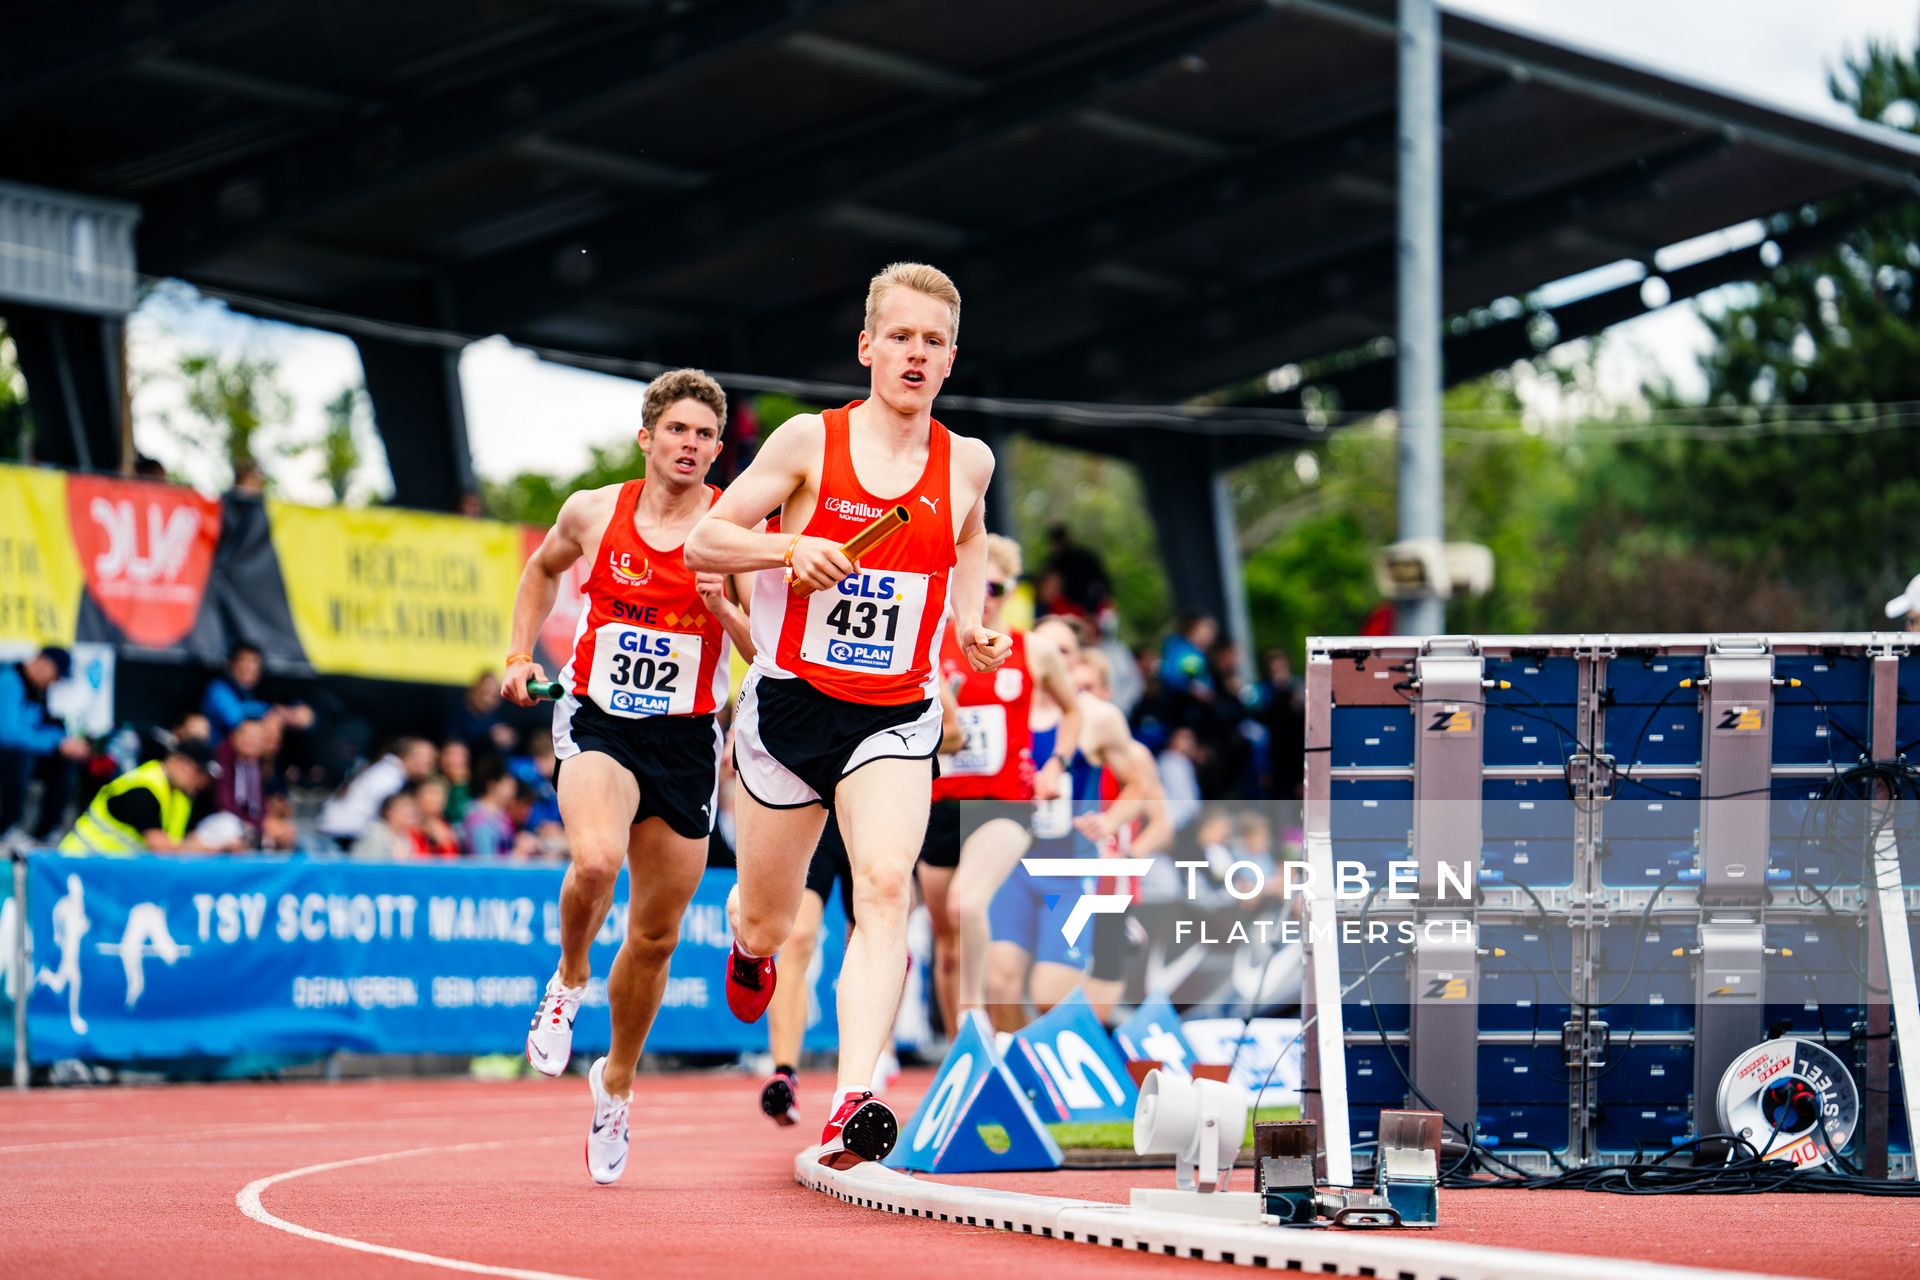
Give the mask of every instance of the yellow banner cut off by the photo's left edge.
[(71, 645), (79, 608), (67, 476), (0, 466), (0, 645)]

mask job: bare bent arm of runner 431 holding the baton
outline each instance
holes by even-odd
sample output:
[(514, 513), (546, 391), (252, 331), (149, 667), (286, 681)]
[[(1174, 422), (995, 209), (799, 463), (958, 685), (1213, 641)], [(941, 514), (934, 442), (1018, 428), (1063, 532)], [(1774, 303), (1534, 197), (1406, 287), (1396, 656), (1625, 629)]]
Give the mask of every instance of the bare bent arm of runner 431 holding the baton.
[(793, 545), (793, 580), (814, 591), (831, 587), (852, 572), (852, 560), (828, 537), (764, 532), (766, 512), (780, 510), (804, 484), (812, 461), (826, 449), (826, 422), (803, 413), (766, 438), (760, 451), (707, 509), (687, 535), (687, 568), (703, 574), (781, 570)]

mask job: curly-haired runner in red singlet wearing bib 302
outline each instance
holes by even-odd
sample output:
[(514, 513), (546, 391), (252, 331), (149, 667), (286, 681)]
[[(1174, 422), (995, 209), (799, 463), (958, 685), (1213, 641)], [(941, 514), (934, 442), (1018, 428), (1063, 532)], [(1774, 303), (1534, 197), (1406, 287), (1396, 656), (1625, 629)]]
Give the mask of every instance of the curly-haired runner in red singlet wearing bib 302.
[(647, 478), (566, 499), (526, 562), (513, 601), (513, 649), (501, 693), (532, 706), (543, 679), (534, 635), (553, 610), (561, 576), (593, 557), (588, 606), (561, 672), (553, 754), (572, 864), (561, 885), (561, 963), (526, 1034), (526, 1057), (561, 1075), (574, 1015), (588, 994), (588, 948), (612, 906), (620, 864), (632, 860), (628, 927), (607, 977), (612, 1046), (588, 1071), (593, 1126), (588, 1173), (612, 1182), (626, 1169), (634, 1067), (666, 988), (680, 915), (707, 867), (720, 781), (728, 637), (753, 652), (747, 618), (718, 574), (685, 562), (685, 539), (720, 495), (707, 468), (720, 455), (726, 393), (695, 368), (647, 384), (639, 443)]

